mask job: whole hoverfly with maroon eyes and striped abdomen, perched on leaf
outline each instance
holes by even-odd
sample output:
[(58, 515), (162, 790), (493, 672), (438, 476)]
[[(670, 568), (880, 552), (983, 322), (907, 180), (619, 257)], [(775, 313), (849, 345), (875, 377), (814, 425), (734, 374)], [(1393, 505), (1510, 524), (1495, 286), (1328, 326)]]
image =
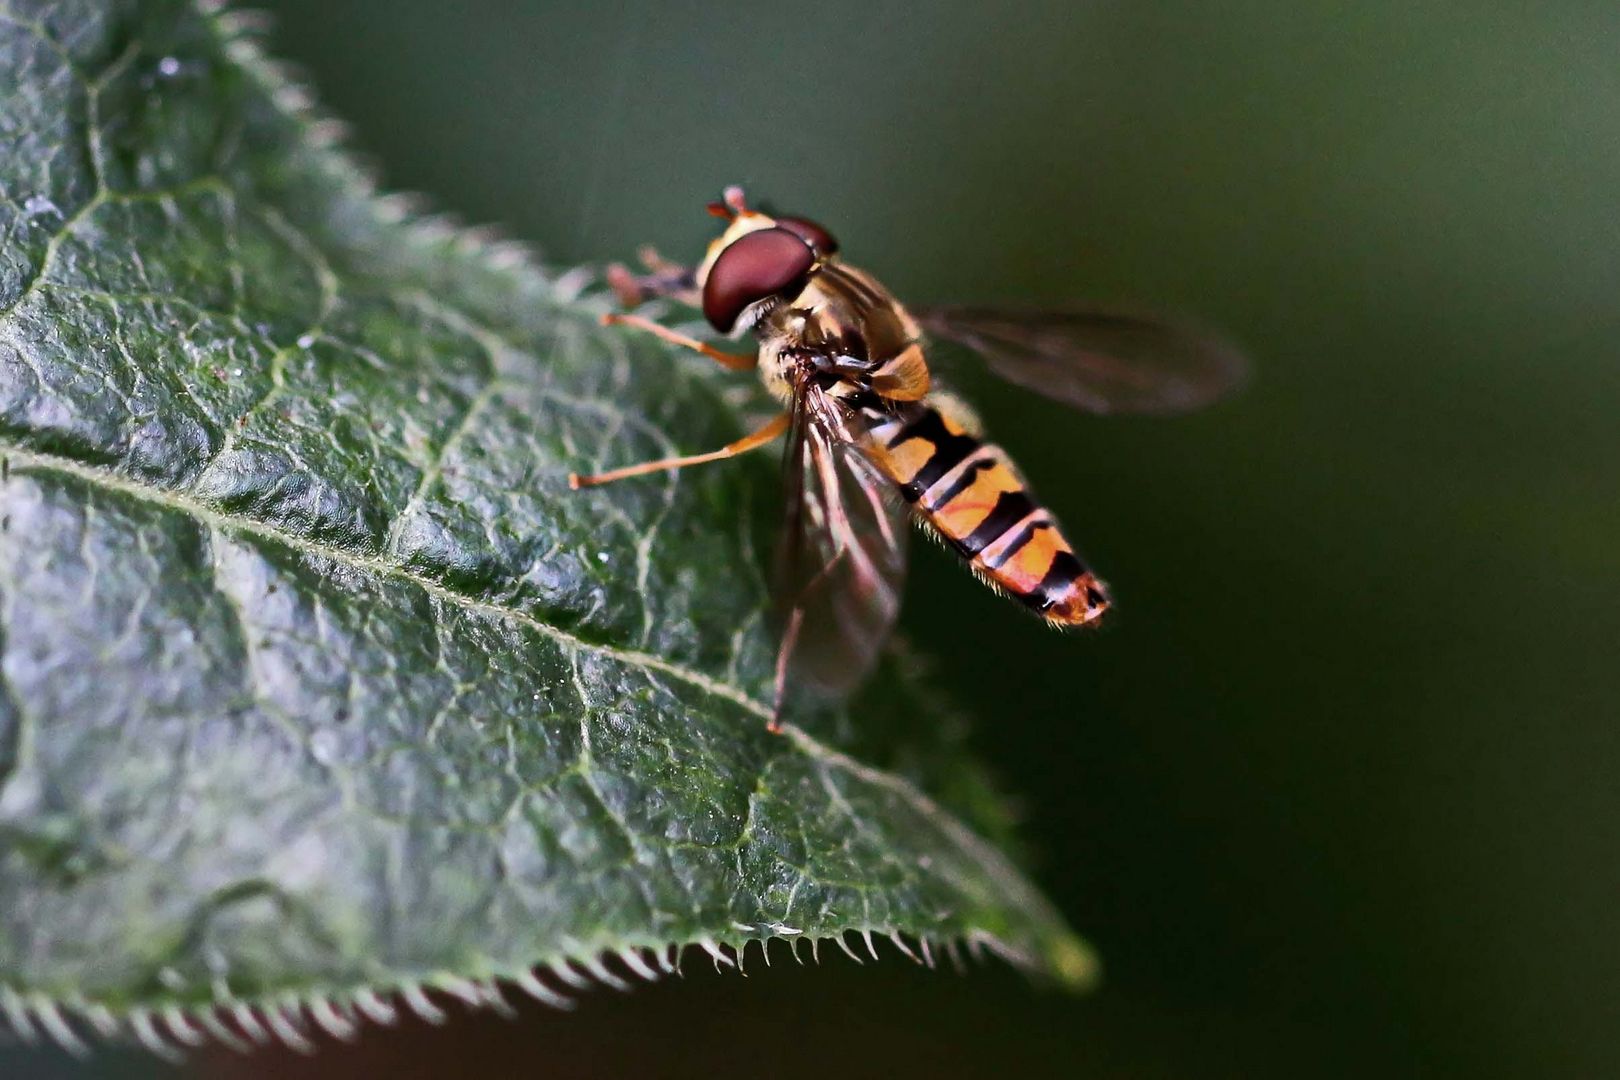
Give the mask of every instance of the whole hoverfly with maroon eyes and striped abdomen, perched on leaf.
[(723, 351), (635, 314), (603, 322), (758, 371), (784, 411), (719, 450), (575, 473), (569, 486), (718, 461), (787, 436), (771, 730), (789, 685), (836, 696), (872, 670), (899, 610), (907, 515), (1048, 623), (1095, 623), (1110, 604), (1103, 583), (1011, 458), (935, 385), (927, 338), (966, 345), (1001, 377), (1090, 413), (1205, 405), (1239, 381), (1243, 358), (1212, 337), (1126, 313), (912, 311), (846, 264), (821, 225), (752, 209), (735, 186), (708, 209), (727, 223), (698, 266), (643, 249), (646, 274), (614, 266), (608, 282), (625, 308), (667, 296), (700, 308), (721, 334), (752, 330), (757, 351)]

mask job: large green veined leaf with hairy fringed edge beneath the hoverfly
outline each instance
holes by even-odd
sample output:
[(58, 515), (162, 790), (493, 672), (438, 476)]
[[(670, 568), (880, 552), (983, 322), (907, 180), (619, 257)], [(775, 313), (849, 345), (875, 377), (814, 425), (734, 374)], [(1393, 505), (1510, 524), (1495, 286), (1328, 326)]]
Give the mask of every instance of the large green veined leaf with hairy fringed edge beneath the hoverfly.
[(0, 11), (13, 1025), (298, 1040), (850, 931), (1090, 975), (907, 665), (765, 732), (770, 461), (567, 491), (755, 390), (376, 196), (240, 19)]

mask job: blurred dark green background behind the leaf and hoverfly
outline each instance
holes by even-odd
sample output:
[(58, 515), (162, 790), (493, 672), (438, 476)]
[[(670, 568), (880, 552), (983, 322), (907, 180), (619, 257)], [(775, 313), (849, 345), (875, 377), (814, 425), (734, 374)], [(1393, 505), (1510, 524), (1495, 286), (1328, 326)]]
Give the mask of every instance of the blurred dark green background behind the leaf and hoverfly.
[(778, 967), (193, 1072), (1620, 1072), (1612, 0), (275, 13), (389, 188), (554, 262), (695, 254), (742, 181), (904, 298), (1134, 298), (1256, 377), (1178, 421), (969, 387), (1111, 628), (919, 546), (904, 627), (1100, 993)]

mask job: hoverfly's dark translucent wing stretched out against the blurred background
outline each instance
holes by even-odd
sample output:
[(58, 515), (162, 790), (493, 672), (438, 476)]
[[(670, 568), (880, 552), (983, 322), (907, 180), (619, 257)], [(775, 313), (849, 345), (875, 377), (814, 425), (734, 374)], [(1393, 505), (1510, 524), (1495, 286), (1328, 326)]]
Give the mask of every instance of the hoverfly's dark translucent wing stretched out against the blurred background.
[(1021, 387), (1090, 413), (1184, 413), (1238, 387), (1243, 353), (1213, 334), (1129, 311), (912, 313), (936, 337), (966, 345)]

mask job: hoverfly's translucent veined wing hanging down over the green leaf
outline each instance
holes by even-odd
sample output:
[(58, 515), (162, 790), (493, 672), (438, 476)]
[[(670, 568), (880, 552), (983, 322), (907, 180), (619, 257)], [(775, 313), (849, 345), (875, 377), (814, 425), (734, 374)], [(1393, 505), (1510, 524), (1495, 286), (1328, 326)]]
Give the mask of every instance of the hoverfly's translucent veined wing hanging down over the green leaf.
[(825, 392), (795, 395), (776, 601), (787, 683), (829, 696), (872, 672), (906, 578), (907, 512), (862, 453), (863, 434)]

